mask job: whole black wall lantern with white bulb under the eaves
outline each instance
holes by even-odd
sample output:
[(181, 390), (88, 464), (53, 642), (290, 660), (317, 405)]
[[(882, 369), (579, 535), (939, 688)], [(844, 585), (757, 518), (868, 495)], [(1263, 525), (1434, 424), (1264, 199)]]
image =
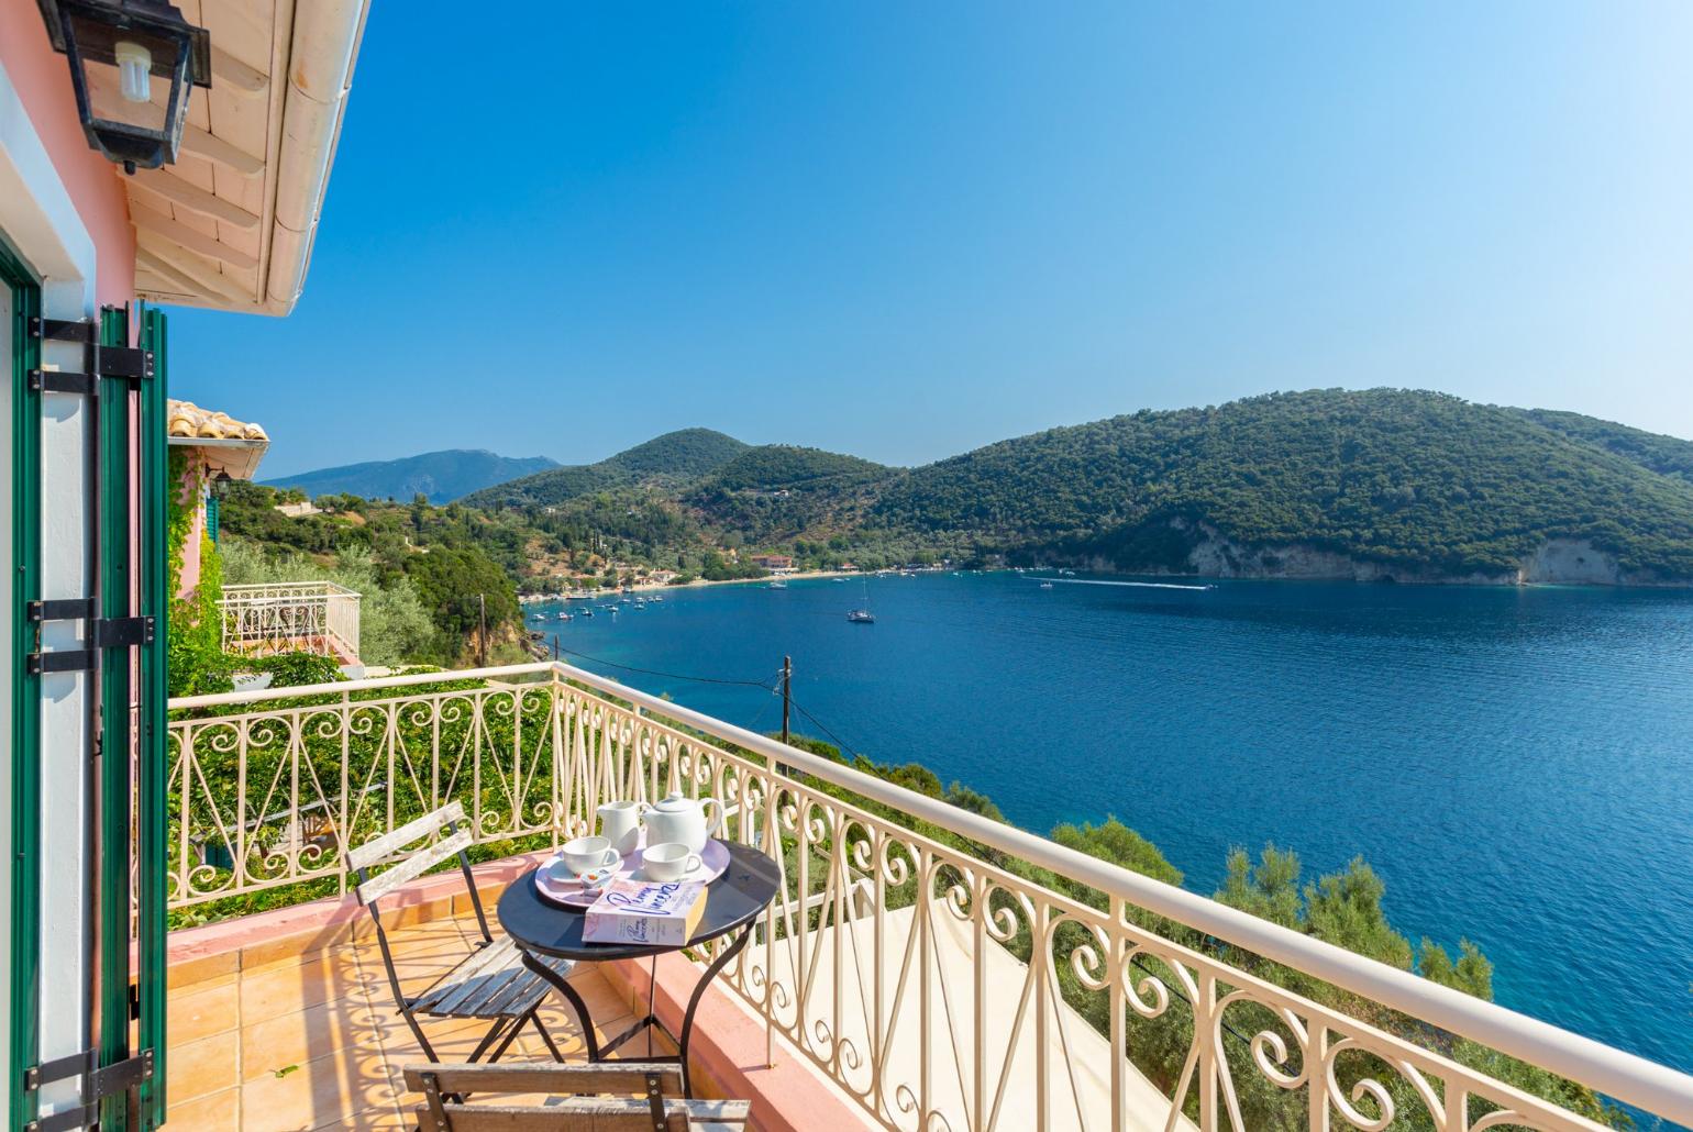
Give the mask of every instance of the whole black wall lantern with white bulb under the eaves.
[(37, 0), (71, 61), (88, 144), (124, 166), (176, 161), (188, 95), (212, 86), (212, 37), (164, 0)]

